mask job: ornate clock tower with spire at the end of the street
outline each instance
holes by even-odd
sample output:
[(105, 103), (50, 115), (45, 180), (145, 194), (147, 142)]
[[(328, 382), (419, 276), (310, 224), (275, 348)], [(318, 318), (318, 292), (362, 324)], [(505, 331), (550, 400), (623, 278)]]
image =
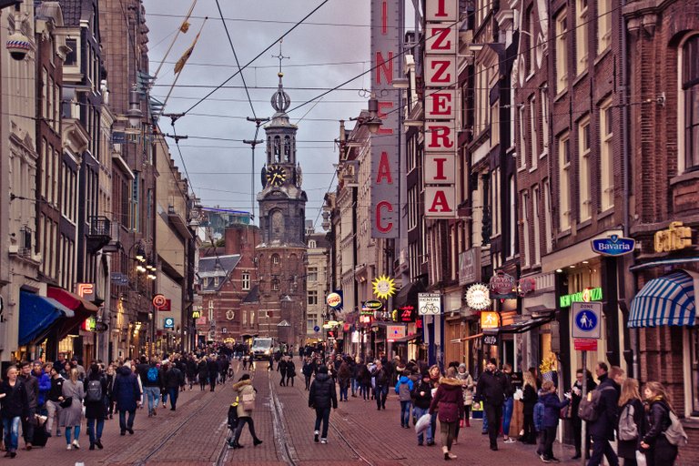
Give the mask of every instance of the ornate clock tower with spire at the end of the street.
[[(281, 58), (280, 58), (281, 59)], [(289, 122), (291, 105), (282, 84), (271, 99), (274, 116), (265, 127), (267, 160), (258, 193), (260, 244), (256, 248), (259, 277), (260, 336), (302, 345), (306, 335), (306, 193), (297, 161), (298, 127)]]

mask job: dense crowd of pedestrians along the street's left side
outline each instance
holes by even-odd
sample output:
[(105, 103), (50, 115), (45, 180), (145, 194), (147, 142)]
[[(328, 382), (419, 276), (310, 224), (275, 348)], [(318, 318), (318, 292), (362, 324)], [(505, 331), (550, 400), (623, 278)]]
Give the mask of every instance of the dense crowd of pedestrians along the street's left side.
[[(20, 428), (25, 451), (44, 446), (51, 437), (64, 436), (66, 450), (78, 450), (86, 425), (89, 450), (103, 449), (105, 421), (117, 414), (121, 435), (134, 433), (138, 408), (147, 407), (148, 417), (158, 406), (177, 410), (182, 390), (214, 391), (217, 383), (233, 376), (231, 351), (216, 346), (197, 353), (171, 354), (167, 358), (93, 362), (86, 370), (76, 358), (62, 355), (55, 362), (20, 362), (0, 380), (0, 449), (15, 458)], [(85, 420), (85, 422), (84, 422)]]

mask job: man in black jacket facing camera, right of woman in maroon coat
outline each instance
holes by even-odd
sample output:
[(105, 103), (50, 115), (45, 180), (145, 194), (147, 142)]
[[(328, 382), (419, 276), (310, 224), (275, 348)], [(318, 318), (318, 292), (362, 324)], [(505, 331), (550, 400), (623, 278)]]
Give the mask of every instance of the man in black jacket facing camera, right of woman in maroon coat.
[(505, 393), (510, 393), (511, 390), (510, 380), (498, 370), (498, 361), (494, 358), (489, 360), (485, 371), (478, 379), (475, 400), (483, 403), (483, 410), (488, 418), (488, 436), (492, 451), (498, 450), (502, 405), (505, 402)]

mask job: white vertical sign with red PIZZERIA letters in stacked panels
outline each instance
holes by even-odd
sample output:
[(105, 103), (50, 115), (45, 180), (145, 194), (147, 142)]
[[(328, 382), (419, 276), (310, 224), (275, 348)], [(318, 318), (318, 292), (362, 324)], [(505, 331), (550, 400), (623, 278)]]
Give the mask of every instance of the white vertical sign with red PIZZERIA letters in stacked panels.
[(425, 4), (425, 217), (456, 217), (459, 0)]

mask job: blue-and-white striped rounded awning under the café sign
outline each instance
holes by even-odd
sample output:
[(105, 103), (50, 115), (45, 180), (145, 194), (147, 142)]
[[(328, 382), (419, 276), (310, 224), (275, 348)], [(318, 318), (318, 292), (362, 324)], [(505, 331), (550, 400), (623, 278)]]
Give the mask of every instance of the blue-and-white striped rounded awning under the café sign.
[(694, 279), (677, 271), (652, 279), (633, 298), (629, 327), (693, 326), (696, 319)]

